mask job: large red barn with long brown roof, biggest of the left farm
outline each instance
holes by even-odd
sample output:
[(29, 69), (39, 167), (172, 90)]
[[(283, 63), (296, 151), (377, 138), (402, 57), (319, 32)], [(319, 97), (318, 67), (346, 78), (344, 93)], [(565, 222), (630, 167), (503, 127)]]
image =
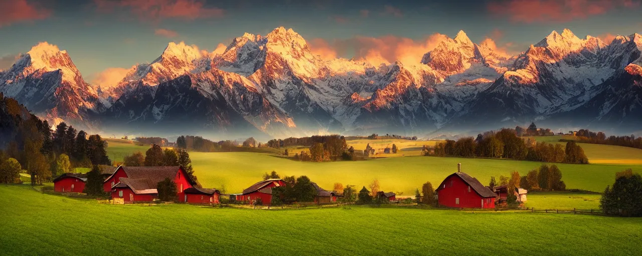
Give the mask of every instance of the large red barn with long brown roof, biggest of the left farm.
[(112, 198), (123, 198), (125, 202), (152, 201), (158, 198), (158, 182), (166, 178), (176, 183), (178, 200), (187, 201), (184, 191), (196, 183), (180, 166), (119, 166), (103, 184), (105, 187), (113, 184)]

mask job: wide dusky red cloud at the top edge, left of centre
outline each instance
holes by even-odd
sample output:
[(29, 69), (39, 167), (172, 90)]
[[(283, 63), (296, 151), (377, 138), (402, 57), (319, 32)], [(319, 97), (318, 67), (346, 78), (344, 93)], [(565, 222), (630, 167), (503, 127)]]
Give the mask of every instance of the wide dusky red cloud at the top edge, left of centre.
[(205, 7), (202, 0), (94, 0), (101, 12), (128, 9), (144, 20), (162, 19), (196, 20), (222, 17), (223, 9)]

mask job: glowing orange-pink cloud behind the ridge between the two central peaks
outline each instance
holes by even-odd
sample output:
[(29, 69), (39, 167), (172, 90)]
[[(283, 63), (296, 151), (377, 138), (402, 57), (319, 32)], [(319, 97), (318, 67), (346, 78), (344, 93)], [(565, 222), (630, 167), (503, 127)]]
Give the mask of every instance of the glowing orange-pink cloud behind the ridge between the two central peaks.
[(446, 35), (435, 33), (422, 40), (398, 36), (356, 36), (354, 38), (334, 40), (329, 43), (317, 38), (309, 42), (310, 50), (324, 60), (337, 56), (352, 55), (355, 60), (367, 61), (372, 65), (401, 61), (405, 64), (417, 64), (422, 56), (434, 49)]

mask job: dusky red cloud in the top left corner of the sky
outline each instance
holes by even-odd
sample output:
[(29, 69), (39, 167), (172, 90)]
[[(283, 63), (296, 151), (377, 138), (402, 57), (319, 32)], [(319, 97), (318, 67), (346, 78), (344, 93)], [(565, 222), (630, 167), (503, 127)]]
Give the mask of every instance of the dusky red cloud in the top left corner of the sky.
[(26, 0), (0, 1), (0, 10), (3, 10), (0, 15), (0, 27), (15, 22), (47, 19), (51, 15), (51, 10), (27, 3)]

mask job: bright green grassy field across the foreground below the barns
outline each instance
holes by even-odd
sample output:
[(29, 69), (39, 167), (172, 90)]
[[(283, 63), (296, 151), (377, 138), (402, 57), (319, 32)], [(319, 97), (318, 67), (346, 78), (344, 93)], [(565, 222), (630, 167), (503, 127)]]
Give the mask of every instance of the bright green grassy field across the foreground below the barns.
[(642, 239), (639, 218), (101, 205), (5, 185), (0, 193), (6, 255), (634, 255)]

